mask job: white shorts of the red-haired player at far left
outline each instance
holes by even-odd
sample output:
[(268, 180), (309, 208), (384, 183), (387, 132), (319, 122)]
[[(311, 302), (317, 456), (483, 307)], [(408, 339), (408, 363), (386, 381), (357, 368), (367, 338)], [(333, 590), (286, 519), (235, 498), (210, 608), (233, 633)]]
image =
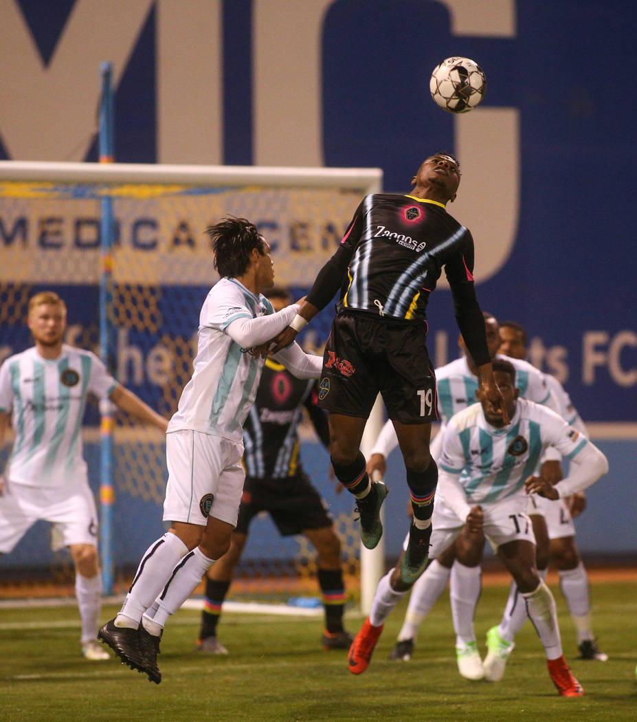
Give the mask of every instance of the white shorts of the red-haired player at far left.
[(53, 551), (71, 544), (97, 547), (97, 509), (88, 484), (43, 489), (5, 479), (0, 495), (0, 553), (12, 552), (40, 520), (53, 524)]

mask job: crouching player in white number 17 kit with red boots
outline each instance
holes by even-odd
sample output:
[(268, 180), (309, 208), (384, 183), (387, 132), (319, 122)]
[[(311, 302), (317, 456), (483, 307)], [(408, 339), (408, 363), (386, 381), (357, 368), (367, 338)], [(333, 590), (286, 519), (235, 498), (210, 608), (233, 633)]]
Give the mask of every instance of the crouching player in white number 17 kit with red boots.
[[(479, 404), (449, 419), (442, 442), (430, 556), (447, 549), (465, 524), (471, 531), (483, 531), (524, 597), (558, 693), (579, 697), (584, 690), (563, 657), (555, 600), (535, 567), (527, 494), (566, 497), (606, 474), (608, 462), (555, 412), (518, 399), (516, 374), (509, 361), (494, 360), (493, 375), (511, 422), (505, 423), (501, 410), (494, 409), (480, 391)], [(557, 448), (571, 461), (569, 476), (555, 485), (532, 476), (548, 447)], [(400, 562), (379, 581), (372, 611), (353, 641), (349, 654), (353, 674), (361, 674), (369, 665), (385, 619), (408, 591), (397, 570)]]

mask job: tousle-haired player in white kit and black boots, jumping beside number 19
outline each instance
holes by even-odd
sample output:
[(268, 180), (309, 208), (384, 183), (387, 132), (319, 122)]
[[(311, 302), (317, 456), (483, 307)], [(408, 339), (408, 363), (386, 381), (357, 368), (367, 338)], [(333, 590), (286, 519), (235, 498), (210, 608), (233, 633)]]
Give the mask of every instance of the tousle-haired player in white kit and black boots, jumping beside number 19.
[[(255, 399), (263, 344), (288, 326), (294, 303), (278, 313), (261, 291), (271, 288), (270, 246), (252, 223), (222, 219), (207, 229), (221, 280), (203, 303), (197, 355), (166, 441), (164, 521), (170, 530), (142, 557), (120, 613), (98, 637), (131, 669), (159, 684), (159, 638), (208, 567), (229, 549), (244, 470), (242, 427)], [(318, 378), (322, 358), (298, 344), (276, 360), (299, 378)]]

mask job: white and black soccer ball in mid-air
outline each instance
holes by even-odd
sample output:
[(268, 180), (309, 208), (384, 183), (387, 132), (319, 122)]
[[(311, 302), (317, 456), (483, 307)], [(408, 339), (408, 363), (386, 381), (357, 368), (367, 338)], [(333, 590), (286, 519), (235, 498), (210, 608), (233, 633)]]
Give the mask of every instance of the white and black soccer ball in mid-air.
[(468, 113), (484, 97), (487, 79), (469, 58), (447, 58), (431, 73), (429, 90), (436, 103), (449, 113)]

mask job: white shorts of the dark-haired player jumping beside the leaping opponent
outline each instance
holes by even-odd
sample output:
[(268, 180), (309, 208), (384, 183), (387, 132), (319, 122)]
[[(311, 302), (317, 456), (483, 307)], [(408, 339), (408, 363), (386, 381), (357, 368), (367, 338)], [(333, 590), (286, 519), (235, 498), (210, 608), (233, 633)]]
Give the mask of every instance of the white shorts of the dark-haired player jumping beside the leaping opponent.
[(208, 516), (237, 526), (245, 472), (243, 444), (193, 430), (166, 435), (164, 521), (206, 526)]

